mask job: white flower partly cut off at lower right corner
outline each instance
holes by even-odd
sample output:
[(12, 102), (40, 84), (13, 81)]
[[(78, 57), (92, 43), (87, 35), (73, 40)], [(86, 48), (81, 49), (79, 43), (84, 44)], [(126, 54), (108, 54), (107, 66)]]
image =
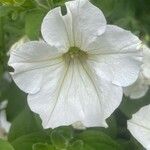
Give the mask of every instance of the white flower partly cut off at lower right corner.
[(128, 120), (128, 129), (132, 135), (150, 150), (150, 105), (144, 106)]

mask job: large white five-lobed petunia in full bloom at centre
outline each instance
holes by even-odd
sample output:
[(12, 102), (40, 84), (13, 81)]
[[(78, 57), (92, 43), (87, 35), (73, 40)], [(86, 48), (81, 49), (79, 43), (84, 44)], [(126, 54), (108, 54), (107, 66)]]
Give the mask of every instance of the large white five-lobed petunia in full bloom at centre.
[(138, 78), (141, 41), (131, 32), (106, 25), (88, 0), (65, 3), (45, 16), (46, 42), (32, 41), (13, 50), (12, 77), (28, 93), (28, 104), (44, 128), (82, 122), (104, 126), (119, 106), (122, 86)]

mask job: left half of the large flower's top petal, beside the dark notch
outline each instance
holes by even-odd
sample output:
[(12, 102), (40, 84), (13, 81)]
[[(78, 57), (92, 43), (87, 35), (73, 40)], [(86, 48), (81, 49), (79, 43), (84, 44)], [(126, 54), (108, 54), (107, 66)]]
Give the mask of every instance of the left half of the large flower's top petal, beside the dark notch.
[(62, 52), (66, 52), (70, 47), (70, 39), (72, 38), (69, 36), (70, 31), (68, 31), (71, 21), (72, 18), (69, 13), (65, 17), (62, 16), (60, 7), (49, 11), (44, 17), (41, 27), (44, 40)]

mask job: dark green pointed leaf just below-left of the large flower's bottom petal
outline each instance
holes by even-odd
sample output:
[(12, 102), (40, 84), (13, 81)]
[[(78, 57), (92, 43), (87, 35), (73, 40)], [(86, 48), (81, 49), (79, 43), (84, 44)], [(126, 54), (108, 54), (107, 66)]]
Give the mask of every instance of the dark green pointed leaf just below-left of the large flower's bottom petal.
[(43, 130), (41, 121), (29, 108), (22, 111), (12, 122), (8, 139), (14, 141), (20, 136)]

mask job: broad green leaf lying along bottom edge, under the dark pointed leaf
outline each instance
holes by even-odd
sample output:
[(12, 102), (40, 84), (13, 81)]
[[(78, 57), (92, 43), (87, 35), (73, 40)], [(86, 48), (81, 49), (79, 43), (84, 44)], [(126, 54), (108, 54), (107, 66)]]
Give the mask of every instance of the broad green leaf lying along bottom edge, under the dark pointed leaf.
[(49, 132), (40, 131), (24, 135), (14, 140), (11, 144), (15, 150), (32, 150), (32, 146), (36, 143), (51, 144)]

